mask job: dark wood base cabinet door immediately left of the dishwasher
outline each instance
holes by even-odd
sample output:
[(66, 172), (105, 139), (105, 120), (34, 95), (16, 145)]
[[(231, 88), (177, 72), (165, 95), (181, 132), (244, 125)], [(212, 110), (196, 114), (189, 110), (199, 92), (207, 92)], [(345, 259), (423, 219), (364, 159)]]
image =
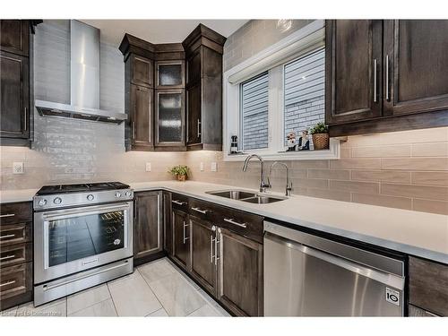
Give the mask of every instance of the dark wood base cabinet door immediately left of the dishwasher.
[(263, 246), (219, 228), (219, 299), (237, 315), (263, 316)]

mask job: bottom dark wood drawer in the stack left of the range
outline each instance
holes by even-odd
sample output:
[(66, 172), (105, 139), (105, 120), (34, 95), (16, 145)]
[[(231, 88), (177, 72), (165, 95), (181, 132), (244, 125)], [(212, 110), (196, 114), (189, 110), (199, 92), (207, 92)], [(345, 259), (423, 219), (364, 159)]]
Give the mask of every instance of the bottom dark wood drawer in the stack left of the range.
[(0, 273), (0, 299), (14, 297), (31, 290), (32, 263), (4, 267)]

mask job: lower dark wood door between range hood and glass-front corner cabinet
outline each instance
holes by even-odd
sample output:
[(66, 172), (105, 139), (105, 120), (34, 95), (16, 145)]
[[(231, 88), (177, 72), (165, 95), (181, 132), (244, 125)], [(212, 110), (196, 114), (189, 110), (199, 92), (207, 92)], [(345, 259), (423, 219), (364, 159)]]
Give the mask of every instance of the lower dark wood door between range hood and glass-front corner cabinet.
[(133, 144), (152, 146), (153, 90), (131, 85)]

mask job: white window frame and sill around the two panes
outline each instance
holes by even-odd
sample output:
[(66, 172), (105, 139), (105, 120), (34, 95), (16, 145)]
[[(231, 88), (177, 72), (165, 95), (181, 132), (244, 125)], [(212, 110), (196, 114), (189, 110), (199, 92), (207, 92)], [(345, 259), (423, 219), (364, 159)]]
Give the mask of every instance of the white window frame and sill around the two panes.
[[(223, 159), (237, 161), (248, 154), (259, 154), (264, 159), (339, 159), (340, 141), (330, 139), (330, 149), (323, 151), (286, 151), (284, 145), (284, 68), (300, 56), (305, 56), (324, 45), (324, 22), (314, 21), (291, 33), (271, 47), (229, 69), (223, 76)], [(298, 47), (297, 47), (298, 46)], [(288, 53), (285, 50), (293, 50)], [(297, 52), (298, 49), (298, 52)], [(285, 55), (286, 54), (286, 55)], [(265, 60), (269, 64), (265, 64)], [(264, 64), (263, 64), (264, 62)], [(263, 68), (264, 66), (264, 68)], [(268, 148), (229, 154), (230, 136), (238, 136), (238, 150), (243, 149), (241, 84), (268, 72)]]

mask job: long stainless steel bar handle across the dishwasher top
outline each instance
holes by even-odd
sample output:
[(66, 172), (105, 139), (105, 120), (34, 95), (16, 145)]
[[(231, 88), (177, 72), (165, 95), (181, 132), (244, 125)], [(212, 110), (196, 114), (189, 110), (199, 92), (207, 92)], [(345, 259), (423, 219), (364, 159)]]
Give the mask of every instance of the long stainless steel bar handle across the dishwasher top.
[(288, 246), (289, 248), (296, 249), (303, 254), (321, 259), (326, 263), (332, 263), (348, 271), (358, 273), (366, 278), (381, 282), (387, 286), (393, 287), (394, 289), (404, 289), (404, 278), (395, 274), (368, 268), (364, 264), (352, 262), (335, 254), (329, 254), (321, 250), (317, 250), (313, 247), (297, 243), (296, 241), (289, 240), (285, 237), (274, 235), (270, 232), (266, 232), (264, 237), (265, 239), (270, 239), (284, 246)]

